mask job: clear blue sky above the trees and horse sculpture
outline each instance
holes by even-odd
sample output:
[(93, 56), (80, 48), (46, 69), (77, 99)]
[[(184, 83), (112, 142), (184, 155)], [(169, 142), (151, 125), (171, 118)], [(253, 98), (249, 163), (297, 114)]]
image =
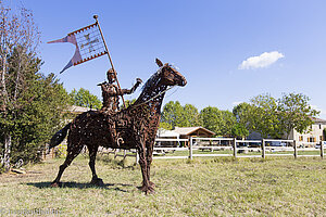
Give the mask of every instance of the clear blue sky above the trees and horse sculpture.
[[(8, 2), (23, 2), (34, 12), (42, 35), (45, 74), (59, 74), (74, 54), (72, 44), (46, 42), (93, 23), (98, 14), (123, 88), (131, 87), (136, 77), (149, 78), (159, 58), (175, 64), (188, 80), (186, 87), (167, 92), (165, 102), (231, 110), (261, 93), (278, 98), (297, 92), (310, 97), (326, 118), (326, 1)], [(97, 84), (105, 79), (109, 67), (102, 56), (58, 77), (68, 91), (83, 87), (101, 97)]]

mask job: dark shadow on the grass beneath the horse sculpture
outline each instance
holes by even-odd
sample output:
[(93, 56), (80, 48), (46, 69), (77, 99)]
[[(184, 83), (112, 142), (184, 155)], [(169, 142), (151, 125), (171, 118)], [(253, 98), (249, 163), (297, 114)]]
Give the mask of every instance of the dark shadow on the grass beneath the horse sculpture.
[[(51, 187), (51, 182), (29, 182), (25, 183), (27, 186), (33, 186), (39, 189), (45, 188), (54, 188)], [(125, 183), (105, 183), (103, 186), (93, 186), (90, 183), (79, 183), (79, 182), (61, 182), (61, 187), (59, 188), (71, 188), (71, 189), (108, 189), (108, 190), (116, 190), (122, 192), (128, 192), (127, 190), (121, 189), (120, 187), (133, 187), (133, 184), (125, 184)], [(115, 187), (115, 188), (114, 188)]]

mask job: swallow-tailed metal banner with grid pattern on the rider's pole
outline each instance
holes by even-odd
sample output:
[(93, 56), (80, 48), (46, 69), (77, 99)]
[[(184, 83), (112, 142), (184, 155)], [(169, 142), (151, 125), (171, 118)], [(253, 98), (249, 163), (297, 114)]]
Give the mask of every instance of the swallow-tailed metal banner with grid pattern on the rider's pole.
[(60, 74), (68, 67), (85, 63), (108, 53), (103, 38), (101, 37), (101, 33), (99, 30), (98, 23), (70, 33), (66, 37), (59, 40), (49, 41), (48, 43), (58, 42), (71, 42), (76, 47), (74, 56), (60, 72)]

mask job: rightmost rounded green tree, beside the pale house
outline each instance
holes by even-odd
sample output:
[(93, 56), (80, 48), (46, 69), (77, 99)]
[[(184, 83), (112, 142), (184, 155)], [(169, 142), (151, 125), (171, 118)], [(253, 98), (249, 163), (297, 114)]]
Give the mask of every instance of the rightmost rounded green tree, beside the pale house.
[(278, 119), (281, 130), (289, 137), (292, 129), (303, 133), (313, 124), (312, 117), (319, 112), (309, 105), (309, 97), (302, 93), (283, 94), (277, 100)]

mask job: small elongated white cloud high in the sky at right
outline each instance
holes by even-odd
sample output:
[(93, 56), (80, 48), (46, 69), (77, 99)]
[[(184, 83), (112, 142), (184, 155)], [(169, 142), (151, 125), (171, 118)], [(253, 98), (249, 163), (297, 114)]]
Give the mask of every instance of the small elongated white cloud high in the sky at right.
[(261, 55), (251, 56), (239, 65), (238, 68), (250, 69), (267, 67), (275, 63), (278, 59), (281, 59), (285, 55), (283, 53), (279, 53), (278, 51), (264, 52)]

